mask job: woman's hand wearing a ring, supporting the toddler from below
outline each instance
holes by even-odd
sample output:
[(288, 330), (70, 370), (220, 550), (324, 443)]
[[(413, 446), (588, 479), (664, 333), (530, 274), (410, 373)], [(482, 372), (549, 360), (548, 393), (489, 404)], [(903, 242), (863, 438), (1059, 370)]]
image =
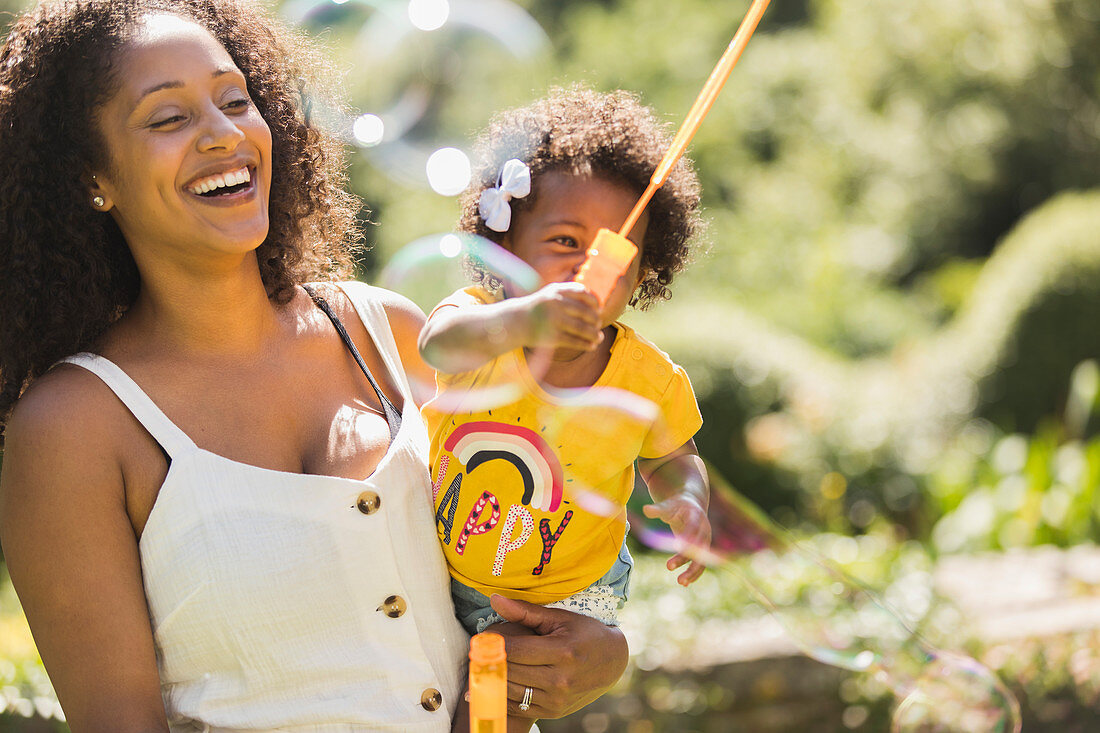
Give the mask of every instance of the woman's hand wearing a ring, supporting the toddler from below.
[[(602, 696), (623, 676), (627, 645), (617, 627), (503, 595), (494, 595), (492, 605), (507, 621), (535, 632), (505, 636), (509, 718), (562, 718)], [(521, 711), (528, 687), (530, 708)]]

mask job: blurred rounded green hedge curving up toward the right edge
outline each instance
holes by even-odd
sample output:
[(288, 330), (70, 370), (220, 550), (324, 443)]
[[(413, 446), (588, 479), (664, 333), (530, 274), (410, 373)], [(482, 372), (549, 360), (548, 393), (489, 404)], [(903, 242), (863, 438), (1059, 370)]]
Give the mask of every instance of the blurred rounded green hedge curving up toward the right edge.
[[(707, 417), (700, 446), (734, 485), (766, 505), (801, 492), (812, 510), (837, 472), (849, 497), (870, 494), (903, 518), (921, 477), (972, 420), (1026, 435), (1070, 409), (1074, 369), (1100, 354), (1096, 231), (1100, 194), (1041, 207), (989, 258), (947, 325), (880, 358), (838, 357), (728, 304), (690, 318), (673, 302), (653, 320), (696, 381)], [(692, 348), (712, 331), (721, 336), (707, 349)], [(1094, 434), (1087, 408), (1072, 409), (1078, 438)]]

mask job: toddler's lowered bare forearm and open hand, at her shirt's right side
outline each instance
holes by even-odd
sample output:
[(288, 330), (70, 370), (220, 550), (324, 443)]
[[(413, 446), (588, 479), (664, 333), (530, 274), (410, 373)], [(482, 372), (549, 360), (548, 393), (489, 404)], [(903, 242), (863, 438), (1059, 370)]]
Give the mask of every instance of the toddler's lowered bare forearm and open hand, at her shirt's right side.
[(681, 586), (697, 580), (705, 565), (696, 559), (695, 549), (711, 546), (711, 522), (706, 510), (711, 501), (711, 486), (706, 467), (689, 440), (668, 456), (639, 458), (638, 470), (649, 486), (656, 503), (642, 508), (646, 516), (658, 518), (672, 528), (681, 549), (669, 559), (669, 570), (676, 570), (689, 561), (691, 565), (676, 579)]

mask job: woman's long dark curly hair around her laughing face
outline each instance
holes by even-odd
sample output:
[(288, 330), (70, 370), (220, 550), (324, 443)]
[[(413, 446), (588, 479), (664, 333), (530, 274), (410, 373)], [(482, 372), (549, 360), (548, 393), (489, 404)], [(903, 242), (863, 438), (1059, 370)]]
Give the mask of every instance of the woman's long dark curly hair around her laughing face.
[(254, 0), (42, 2), (0, 47), (0, 436), (26, 384), (91, 348), (138, 295), (130, 250), (86, 183), (109, 168), (96, 120), (119, 52), (161, 12), (221, 42), (271, 128), (270, 230), (256, 250), (268, 296), (286, 303), (298, 283), (351, 272), (359, 200), (343, 188), (340, 143), (310, 123), (307, 85), (331, 75), (304, 37)]

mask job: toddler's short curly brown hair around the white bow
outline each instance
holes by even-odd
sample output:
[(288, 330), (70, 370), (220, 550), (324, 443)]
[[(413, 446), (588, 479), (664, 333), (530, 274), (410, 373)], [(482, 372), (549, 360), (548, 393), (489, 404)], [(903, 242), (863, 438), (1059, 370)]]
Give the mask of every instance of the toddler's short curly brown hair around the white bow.
[[(627, 91), (601, 94), (582, 87), (556, 88), (527, 107), (493, 118), (477, 138), (477, 167), (461, 198), (459, 229), (496, 243), (477, 211), (482, 192), (497, 185), (505, 162), (524, 161), (531, 171), (531, 193), (513, 199), (515, 215), (530, 209), (539, 195), (539, 178), (548, 171), (597, 176), (620, 182), (641, 196), (672, 138), (653, 112)], [(649, 203), (649, 226), (641, 247), (645, 278), (630, 302), (648, 308), (667, 300), (672, 277), (688, 264), (692, 239), (702, 227), (698, 178), (686, 158), (673, 167)], [(473, 266), (474, 276), (490, 287), (494, 278)]]

